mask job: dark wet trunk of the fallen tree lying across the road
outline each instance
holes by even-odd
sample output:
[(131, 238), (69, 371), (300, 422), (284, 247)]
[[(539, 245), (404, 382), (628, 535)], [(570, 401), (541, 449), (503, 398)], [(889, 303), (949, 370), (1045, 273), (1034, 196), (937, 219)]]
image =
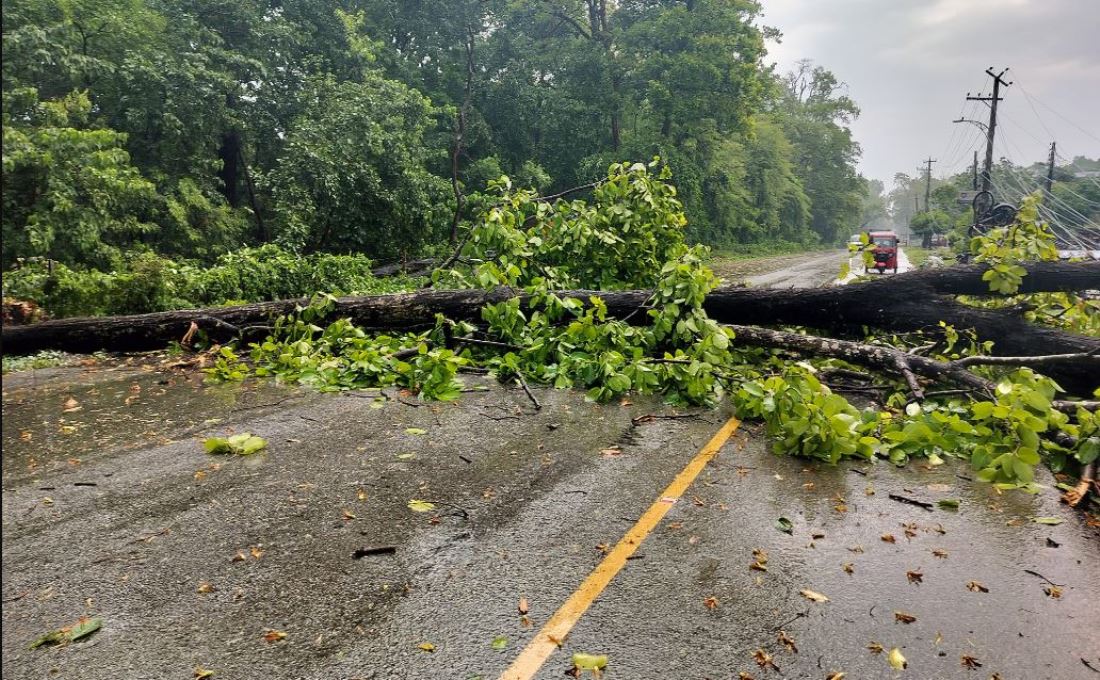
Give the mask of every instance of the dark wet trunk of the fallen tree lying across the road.
[[(770, 290), (719, 288), (707, 296), (707, 314), (723, 323), (741, 326), (803, 326), (838, 333), (861, 336), (864, 328), (909, 332), (936, 329), (944, 321), (958, 330), (974, 329), (978, 337), (993, 341), (1000, 355), (1069, 354), (1096, 352), (1100, 338), (1079, 336), (1041, 327), (1018, 316), (967, 307), (948, 295), (988, 293), (981, 281), (983, 267), (977, 265), (898, 274), (888, 278), (848, 286), (812, 289)], [(1081, 290), (1100, 287), (1100, 263), (1034, 263), (1027, 265), (1021, 293)], [(651, 295), (649, 290), (564, 290), (559, 295), (587, 299), (600, 297), (612, 318), (630, 317), (645, 322), (638, 314)], [(350, 317), (372, 329), (424, 328), (437, 314), (464, 321), (481, 321), (481, 310), (522, 292), (425, 289), (398, 295), (344, 297), (337, 303), (333, 317)], [(266, 323), (272, 317), (288, 314), (306, 299), (256, 303), (237, 307), (185, 309), (121, 317), (73, 318), (43, 321), (29, 326), (6, 326), (3, 351), (26, 354), (45, 349), (70, 352), (141, 351), (165, 347), (179, 340), (198, 318), (220, 319), (237, 327)], [(200, 321), (200, 326), (204, 326)], [(205, 327), (205, 326), (204, 326)], [(1081, 375), (1072, 365), (1053, 365), (1046, 373), (1064, 386), (1091, 390), (1096, 380)], [(1093, 383), (1091, 386), (1085, 383)]]

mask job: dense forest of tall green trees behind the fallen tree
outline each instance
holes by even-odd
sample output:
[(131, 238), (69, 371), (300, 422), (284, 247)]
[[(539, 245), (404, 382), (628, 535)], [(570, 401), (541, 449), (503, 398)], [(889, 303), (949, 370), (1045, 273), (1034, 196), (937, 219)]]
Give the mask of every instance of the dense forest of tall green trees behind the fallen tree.
[(411, 257), (502, 175), (654, 156), (693, 241), (835, 242), (858, 108), (769, 37), (754, 0), (6, 1), (3, 267)]

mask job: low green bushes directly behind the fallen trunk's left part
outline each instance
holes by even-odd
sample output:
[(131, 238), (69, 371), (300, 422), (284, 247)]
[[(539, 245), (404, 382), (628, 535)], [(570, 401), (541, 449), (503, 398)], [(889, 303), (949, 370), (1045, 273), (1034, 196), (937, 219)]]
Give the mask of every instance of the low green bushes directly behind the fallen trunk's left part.
[(54, 318), (142, 314), (229, 303), (389, 293), (411, 286), (405, 278), (375, 278), (363, 255), (298, 255), (276, 245), (244, 249), (212, 265), (154, 253), (125, 259), (111, 272), (74, 270), (54, 263), (21, 263), (3, 273), (3, 295), (32, 300)]

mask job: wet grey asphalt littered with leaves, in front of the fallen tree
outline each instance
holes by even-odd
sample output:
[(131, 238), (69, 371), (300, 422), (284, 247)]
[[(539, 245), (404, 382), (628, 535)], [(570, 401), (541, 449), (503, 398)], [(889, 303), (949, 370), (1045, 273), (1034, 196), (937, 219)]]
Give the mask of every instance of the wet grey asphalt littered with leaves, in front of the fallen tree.
[[(3, 677), (495, 678), (728, 414), (634, 425), (671, 412), (539, 391), (536, 413), (483, 384), (377, 408), (135, 369), (6, 376)], [(268, 450), (202, 452), (239, 431)], [(998, 495), (950, 461), (831, 468), (765, 447), (743, 426), (536, 677), (575, 651), (608, 655), (609, 679), (1097, 677), (1100, 530), (1056, 493)], [(1030, 522), (1045, 516), (1063, 522)], [(353, 558), (378, 546), (394, 551)], [(28, 649), (85, 614), (105, 622), (87, 641)]]

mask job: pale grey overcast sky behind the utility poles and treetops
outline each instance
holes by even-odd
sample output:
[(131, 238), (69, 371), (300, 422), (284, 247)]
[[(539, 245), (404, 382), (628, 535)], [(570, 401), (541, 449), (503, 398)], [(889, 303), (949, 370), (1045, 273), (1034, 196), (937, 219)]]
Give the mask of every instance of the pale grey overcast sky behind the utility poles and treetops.
[[(966, 118), (988, 120), (985, 69), (1015, 84), (1002, 90), (997, 157), (1015, 163), (1058, 154), (1100, 157), (1100, 0), (761, 0), (766, 25), (783, 33), (768, 62), (800, 58), (848, 85), (862, 113), (853, 125), (861, 172), (890, 187), (895, 172), (958, 172), (985, 154)], [(1034, 110), (1033, 110), (1034, 108)], [(980, 139), (979, 139), (980, 138)]]

